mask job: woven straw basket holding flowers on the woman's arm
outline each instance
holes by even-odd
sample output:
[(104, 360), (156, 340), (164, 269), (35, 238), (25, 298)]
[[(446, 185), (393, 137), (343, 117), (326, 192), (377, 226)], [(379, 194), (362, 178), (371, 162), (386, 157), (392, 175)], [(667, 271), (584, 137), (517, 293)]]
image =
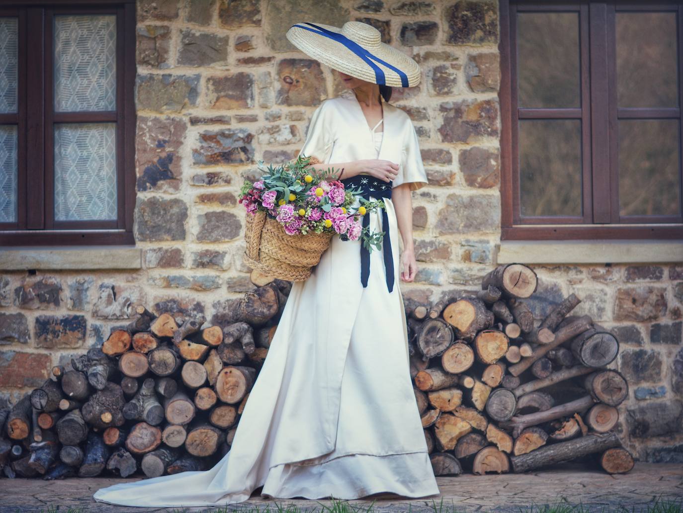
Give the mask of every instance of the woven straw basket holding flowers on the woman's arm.
[(329, 247), (333, 234), (288, 235), (266, 212), (246, 214), (245, 262), (266, 276), (303, 281)]

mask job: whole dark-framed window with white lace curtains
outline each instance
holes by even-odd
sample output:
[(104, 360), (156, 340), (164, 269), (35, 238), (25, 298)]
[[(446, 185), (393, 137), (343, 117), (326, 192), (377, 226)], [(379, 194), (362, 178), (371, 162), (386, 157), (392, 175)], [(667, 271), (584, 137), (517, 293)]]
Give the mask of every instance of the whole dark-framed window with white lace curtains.
[(133, 244), (135, 3), (0, 7), (0, 245)]

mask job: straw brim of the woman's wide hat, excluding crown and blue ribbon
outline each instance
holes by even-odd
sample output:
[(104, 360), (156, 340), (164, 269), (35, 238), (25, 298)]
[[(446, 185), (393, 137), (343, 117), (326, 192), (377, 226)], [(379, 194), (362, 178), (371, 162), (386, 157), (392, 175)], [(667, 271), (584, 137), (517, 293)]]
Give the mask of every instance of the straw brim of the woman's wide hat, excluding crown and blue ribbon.
[[(322, 25), (322, 23), (316, 23), (316, 25), (329, 31), (342, 33), (339, 27)], [(351, 77), (378, 83), (374, 70), (361, 57), (344, 46), (344, 44), (296, 25), (292, 25), (285, 36), (296, 48), (309, 57), (320, 61), (322, 64), (346, 73)], [(372, 52), (372, 55), (404, 72), (408, 78), (408, 87), (414, 87), (420, 83), (419, 64), (393, 46), (380, 43), (380, 46)], [(376, 61), (375, 64), (384, 72), (385, 85), (404, 87), (401, 77), (397, 72)]]

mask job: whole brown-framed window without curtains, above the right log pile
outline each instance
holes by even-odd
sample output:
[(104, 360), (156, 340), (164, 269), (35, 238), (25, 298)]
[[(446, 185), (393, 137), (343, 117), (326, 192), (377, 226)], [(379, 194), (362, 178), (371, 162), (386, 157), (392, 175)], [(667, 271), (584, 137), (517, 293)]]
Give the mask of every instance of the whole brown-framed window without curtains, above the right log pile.
[(503, 240), (683, 238), (682, 18), (501, 0)]

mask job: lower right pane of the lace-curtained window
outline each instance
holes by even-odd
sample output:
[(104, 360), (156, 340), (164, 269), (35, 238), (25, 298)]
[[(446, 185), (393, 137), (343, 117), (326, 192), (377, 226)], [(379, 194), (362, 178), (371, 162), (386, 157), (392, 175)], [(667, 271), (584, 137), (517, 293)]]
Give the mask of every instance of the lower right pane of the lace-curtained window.
[(55, 219), (116, 219), (116, 125), (55, 125)]

